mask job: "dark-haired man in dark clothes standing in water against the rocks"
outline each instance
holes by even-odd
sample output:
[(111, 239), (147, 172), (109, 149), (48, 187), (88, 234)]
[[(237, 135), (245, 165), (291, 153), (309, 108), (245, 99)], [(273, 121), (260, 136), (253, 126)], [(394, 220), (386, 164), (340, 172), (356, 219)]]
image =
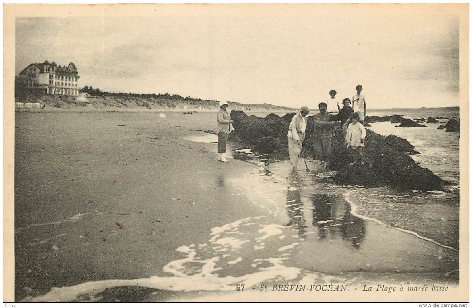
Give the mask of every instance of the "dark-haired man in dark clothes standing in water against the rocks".
[(320, 160), (320, 167), (329, 161), (331, 156), (331, 139), (333, 137), (333, 127), (337, 125), (335, 115), (326, 112), (328, 105), (320, 103), (318, 105), (320, 113), (313, 116), (313, 158)]

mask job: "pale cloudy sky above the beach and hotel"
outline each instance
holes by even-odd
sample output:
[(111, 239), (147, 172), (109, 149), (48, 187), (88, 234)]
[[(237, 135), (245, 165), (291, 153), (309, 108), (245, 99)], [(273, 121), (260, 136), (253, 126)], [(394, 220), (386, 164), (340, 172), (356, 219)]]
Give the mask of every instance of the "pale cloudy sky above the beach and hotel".
[(316, 108), (363, 86), (367, 108), (459, 105), (454, 15), (173, 14), (17, 18), (15, 73), (74, 61), (79, 87)]

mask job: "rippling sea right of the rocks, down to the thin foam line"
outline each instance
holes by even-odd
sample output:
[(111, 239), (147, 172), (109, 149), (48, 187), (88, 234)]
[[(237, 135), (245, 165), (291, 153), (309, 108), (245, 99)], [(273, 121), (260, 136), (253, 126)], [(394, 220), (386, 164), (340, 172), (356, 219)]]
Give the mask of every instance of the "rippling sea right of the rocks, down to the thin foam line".
[[(398, 110), (405, 117), (457, 117), (458, 108)], [(397, 113), (397, 114), (398, 114)], [(379, 114), (383, 115), (383, 114)], [(440, 120), (447, 122), (447, 119)], [(437, 129), (444, 123), (422, 123), (426, 127), (399, 128), (388, 122), (371, 123), (374, 132), (407, 139), (420, 154), (411, 155), (423, 168), (447, 180), (450, 192), (398, 193), (388, 188), (359, 189), (349, 197), (359, 213), (380, 219), (458, 249), (459, 243), (459, 133)], [(384, 206), (379, 206), (384, 205)], [(387, 205), (387, 206), (385, 206)]]

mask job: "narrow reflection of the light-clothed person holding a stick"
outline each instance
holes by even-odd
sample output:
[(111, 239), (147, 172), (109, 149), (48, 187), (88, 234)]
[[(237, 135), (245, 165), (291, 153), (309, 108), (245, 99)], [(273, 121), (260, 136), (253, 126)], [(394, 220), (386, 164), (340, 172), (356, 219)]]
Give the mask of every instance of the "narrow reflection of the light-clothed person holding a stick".
[(303, 216), (303, 202), (302, 202), (302, 184), (299, 175), (296, 171), (292, 171), (288, 178), (287, 188), (287, 214), (288, 222), (285, 226), (298, 230), (300, 237), (305, 236), (306, 232), (306, 221)]

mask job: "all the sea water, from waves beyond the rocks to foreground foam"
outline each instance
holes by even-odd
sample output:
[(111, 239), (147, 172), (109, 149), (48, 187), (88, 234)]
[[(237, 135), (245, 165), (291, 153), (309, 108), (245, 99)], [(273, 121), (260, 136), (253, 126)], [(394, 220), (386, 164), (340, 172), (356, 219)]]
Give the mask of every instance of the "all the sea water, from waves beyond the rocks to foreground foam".
[[(433, 111), (411, 112), (409, 118), (426, 118), (428, 112)], [(381, 282), (455, 285), (459, 134), (437, 129), (440, 124), (398, 128), (373, 123), (371, 129), (408, 139), (421, 153), (412, 158), (447, 180), (449, 192), (340, 186), (333, 182), (333, 172), (320, 173), (311, 161), (307, 162), (310, 171), (300, 161), (299, 171), (292, 173), (288, 161), (268, 163), (248, 150), (237, 151), (234, 158), (259, 167), (225, 179), (228, 193), (250, 196), (259, 216), (243, 213), (204, 234), (200, 242), (182, 243), (175, 260), (163, 268), (167, 276), (84, 282), (24, 300), (101, 301), (110, 290), (123, 287), (178, 292), (180, 300), (189, 300), (221, 294), (215, 292), (236, 296), (236, 286), (243, 284), (248, 291), (258, 290), (261, 284), (271, 289), (278, 283), (306, 284), (308, 289), (333, 283), (340, 290)], [(214, 142), (213, 135), (189, 139)], [(157, 293), (150, 291), (137, 300), (160, 300)], [(272, 300), (277, 296), (258, 292), (258, 299), (264, 294)], [(309, 294), (315, 300), (320, 293)]]

